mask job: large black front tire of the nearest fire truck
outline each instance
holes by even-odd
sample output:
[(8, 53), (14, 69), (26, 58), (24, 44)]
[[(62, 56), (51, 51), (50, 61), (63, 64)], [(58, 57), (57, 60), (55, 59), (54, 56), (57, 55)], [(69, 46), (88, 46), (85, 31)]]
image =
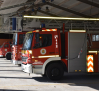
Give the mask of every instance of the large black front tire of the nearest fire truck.
[(52, 63), (46, 69), (46, 75), (51, 80), (59, 80), (64, 74), (63, 67), (59, 63)]

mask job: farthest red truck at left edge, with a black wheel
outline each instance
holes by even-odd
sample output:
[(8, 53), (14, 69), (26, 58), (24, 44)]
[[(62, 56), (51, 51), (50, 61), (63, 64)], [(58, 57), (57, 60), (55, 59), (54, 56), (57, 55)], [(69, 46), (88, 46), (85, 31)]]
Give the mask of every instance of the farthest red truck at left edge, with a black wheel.
[(0, 46), (0, 57), (6, 57), (7, 60), (11, 59), (11, 43), (4, 42)]

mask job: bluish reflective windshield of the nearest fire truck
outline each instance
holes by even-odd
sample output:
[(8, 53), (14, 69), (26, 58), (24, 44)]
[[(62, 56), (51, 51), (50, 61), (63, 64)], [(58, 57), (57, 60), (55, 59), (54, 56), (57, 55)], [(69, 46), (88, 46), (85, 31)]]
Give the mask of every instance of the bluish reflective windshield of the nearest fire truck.
[(27, 33), (23, 42), (23, 50), (30, 50), (32, 44), (33, 33)]

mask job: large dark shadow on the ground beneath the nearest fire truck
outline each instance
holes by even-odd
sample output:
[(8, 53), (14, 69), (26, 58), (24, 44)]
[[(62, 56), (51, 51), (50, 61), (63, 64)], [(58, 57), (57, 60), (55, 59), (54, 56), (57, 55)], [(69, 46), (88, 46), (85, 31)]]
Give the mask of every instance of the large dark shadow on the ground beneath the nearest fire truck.
[(61, 80), (51, 81), (47, 77), (33, 77), (39, 82), (64, 83), (70, 86), (87, 86), (99, 90), (99, 74), (67, 73)]

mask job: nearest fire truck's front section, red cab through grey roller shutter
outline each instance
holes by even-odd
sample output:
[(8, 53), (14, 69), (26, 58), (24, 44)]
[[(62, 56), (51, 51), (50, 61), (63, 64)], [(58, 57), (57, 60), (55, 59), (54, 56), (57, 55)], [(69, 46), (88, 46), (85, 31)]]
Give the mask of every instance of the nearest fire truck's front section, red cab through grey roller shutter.
[(52, 80), (64, 72), (87, 72), (86, 31), (42, 29), (28, 32), (22, 48), (22, 70)]

